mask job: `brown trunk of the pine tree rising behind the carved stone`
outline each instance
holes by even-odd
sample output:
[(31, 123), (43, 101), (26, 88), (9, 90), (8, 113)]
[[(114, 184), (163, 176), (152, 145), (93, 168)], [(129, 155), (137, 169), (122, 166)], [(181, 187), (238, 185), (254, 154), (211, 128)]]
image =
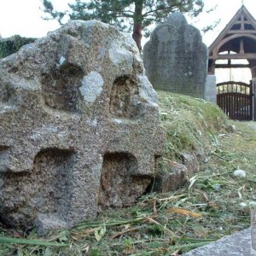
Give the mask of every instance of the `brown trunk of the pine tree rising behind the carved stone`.
[(143, 38), (143, 0), (135, 0), (135, 11), (133, 17), (133, 33), (132, 38), (137, 44), (137, 48), (141, 52), (142, 50), (142, 38)]

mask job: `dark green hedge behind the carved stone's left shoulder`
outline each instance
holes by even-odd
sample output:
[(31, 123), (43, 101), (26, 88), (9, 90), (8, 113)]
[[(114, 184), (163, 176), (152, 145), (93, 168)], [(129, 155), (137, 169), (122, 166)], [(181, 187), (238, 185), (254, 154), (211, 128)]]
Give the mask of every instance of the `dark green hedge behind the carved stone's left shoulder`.
[(21, 46), (30, 44), (35, 41), (35, 38), (21, 38), (15, 35), (11, 38), (4, 38), (0, 40), (0, 58), (4, 58), (17, 52)]

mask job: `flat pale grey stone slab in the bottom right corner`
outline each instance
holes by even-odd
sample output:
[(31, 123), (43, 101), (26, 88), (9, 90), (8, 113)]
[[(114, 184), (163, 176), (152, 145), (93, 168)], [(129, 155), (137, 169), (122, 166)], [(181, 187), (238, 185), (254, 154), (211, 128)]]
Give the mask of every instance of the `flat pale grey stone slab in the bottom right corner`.
[(214, 241), (207, 246), (198, 247), (183, 256), (255, 256), (256, 255), (256, 232), (253, 229), (242, 230), (230, 236), (224, 236), (218, 241)]

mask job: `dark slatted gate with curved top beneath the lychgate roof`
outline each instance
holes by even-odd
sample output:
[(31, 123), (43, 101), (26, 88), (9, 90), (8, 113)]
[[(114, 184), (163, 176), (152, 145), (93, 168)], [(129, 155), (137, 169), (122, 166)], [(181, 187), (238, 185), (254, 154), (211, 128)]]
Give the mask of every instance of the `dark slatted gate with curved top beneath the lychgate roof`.
[(253, 119), (253, 84), (224, 82), (217, 84), (217, 104), (230, 119)]

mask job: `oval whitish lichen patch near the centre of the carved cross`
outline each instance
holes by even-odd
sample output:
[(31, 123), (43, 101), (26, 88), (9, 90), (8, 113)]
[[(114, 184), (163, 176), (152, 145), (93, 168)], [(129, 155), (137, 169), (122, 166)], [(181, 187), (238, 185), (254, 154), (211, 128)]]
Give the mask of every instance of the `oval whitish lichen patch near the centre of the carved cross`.
[(96, 97), (102, 93), (104, 80), (102, 76), (93, 71), (84, 77), (82, 86), (79, 88), (85, 102), (95, 102)]

